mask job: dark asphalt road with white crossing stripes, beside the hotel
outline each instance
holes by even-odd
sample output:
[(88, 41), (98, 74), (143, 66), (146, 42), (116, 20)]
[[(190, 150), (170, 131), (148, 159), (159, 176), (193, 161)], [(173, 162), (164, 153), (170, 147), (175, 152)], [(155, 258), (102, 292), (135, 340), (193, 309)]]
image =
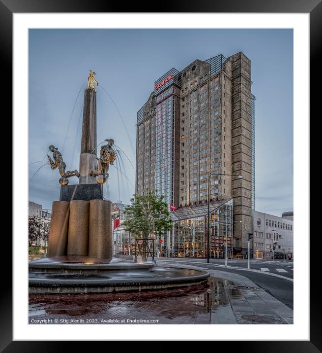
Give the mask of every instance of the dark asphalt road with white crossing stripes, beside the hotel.
[[(265, 289), (273, 297), (293, 309), (293, 261), (264, 261), (251, 260), (250, 268), (247, 270), (247, 260), (228, 260), (225, 267), (225, 260), (211, 259), (179, 259), (179, 258), (158, 258), (157, 263), (187, 264), (191, 266), (204, 267), (211, 270), (220, 270), (237, 273), (249, 278), (258, 286)], [(274, 274), (267, 275), (267, 274)], [(290, 279), (290, 280), (288, 280)]]

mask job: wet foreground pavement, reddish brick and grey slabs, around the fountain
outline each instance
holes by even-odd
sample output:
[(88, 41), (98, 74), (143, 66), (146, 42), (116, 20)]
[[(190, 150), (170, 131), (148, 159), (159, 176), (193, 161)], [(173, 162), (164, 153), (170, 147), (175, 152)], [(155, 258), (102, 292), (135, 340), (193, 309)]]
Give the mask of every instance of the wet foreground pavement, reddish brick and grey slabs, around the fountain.
[(293, 310), (248, 278), (209, 271), (206, 285), (141, 292), (30, 294), (29, 323), (292, 324)]

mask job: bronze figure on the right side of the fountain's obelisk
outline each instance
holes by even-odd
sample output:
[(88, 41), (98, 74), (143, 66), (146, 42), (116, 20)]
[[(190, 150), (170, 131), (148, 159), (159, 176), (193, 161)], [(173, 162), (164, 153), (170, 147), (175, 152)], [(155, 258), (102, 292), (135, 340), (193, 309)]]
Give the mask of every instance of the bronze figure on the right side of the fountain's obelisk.
[(98, 166), (97, 170), (90, 170), (89, 175), (90, 176), (96, 176), (96, 180), (100, 184), (104, 184), (109, 177), (109, 168), (110, 165), (113, 166), (114, 161), (117, 158), (117, 153), (116, 151), (112, 148), (114, 144), (113, 139), (107, 139), (105, 140), (108, 143), (105, 144), (104, 146), (101, 147), (100, 149), (100, 157), (97, 158), (98, 160)]

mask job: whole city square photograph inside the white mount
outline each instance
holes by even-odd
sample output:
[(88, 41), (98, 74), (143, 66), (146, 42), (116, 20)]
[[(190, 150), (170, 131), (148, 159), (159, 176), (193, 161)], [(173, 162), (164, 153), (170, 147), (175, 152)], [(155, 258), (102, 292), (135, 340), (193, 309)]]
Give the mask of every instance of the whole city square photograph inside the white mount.
[(29, 324), (293, 324), (293, 30), (28, 50)]

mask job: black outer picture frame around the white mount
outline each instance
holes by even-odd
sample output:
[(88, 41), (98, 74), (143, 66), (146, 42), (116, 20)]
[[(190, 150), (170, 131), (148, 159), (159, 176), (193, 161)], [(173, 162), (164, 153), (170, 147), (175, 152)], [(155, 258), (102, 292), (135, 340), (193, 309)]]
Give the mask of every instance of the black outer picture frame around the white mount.
[[(9, 77), (12, 72), (12, 49), (13, 49), (13, 13), (46, 13), (46, 12), (124, 12), (125, 3), (116, 3), (103, 0), (0, 0), (0, 58), (1, 71)], [(155, 3), (159, 6), (155, 8), (141, 6), (138, 2), (126, 4), (126, 12), (235, 12), (235, 13), (310, 13), (310, 70), (312, 76), (310, 79), (310, 110), (315, 110), (319, 102), (318, 89), (313, 89), (314, 82), (317, 82), (319, 74), (320, 46), (322, 43), (322, 2), (321, 0), (226, 0), (226, 1), (177, 1)], [(162, 9), (161, 9), (162, 7)], [(161, 9), (161, 11), (160, 11)], [(2, 102), (6, 102), (9, 107), (8, 116), (12, 115), (12, 86), (10, 79), (7, 79), (6, 90), (2, 90)], [(4, 236), (4, 234), (3, 234)], [(305, 235), (309, 236), (309, 234)], [(318, 236), (318, 235), (317, 235)], [(8, 242), (8, 244), (10, 244)], [(313, 246), (315, 242), (310, 242), (311, 253), (313, 254)], [(12, 264), (12, 256), (10, 251), (6, 251), (6, 271)], [(4, 254), (2, 254), (3, 256)], [(318, 268), (318, 256), (311, 256), (311, 269)], [(247, 341), (237, 342), (217, 342), (216, 349), (229, 349), (247, 352), (322, 352), (322, 324), (321, 324), (321, 299), (318, 298), (318, 290), (315, 288), (316, 281), (310, 274), (310, 341), (254, 341), (251, 344)], [(13, 324), (13, 308), (12, 308), (12, 279), (6, 280), (5, 285), (1, 289), (0, 301), (0, 349), (1, 352), (59, 352), (67, 350), (70, 344), (73, 345), (72, 352), (77, 350), (79, 345), (81, 351), (93, 349), (87, 342), (52, 342), (52, 341), (12, 341), (12, 324)], [(251, 325), (250, 325), (251, 330)], [(144, 338), (140, 338), (144, 340)], [(256, 337), (254, 337), (256, 340)], [(295, 338), (294, 338), (295, 339)], [(209, 337), (209, 340), (211, 338)], [(122, 343), (122, 349), (125, 348)], [(90, 343), (92, 345), (92, 343)], [(108, 344), (108, 343), (106, 343)], [(229, 346), (227, 346), (229, 344)], [(163, 348), (162, 348), (163, 347)], [(108, 346), (105, 346), (108, 349)], [(165, 345), (154, 345), (150, 347), (152, 350), (161, 351), (166, 349)], [(214, 346), (213, 346), (214, 349)]]

